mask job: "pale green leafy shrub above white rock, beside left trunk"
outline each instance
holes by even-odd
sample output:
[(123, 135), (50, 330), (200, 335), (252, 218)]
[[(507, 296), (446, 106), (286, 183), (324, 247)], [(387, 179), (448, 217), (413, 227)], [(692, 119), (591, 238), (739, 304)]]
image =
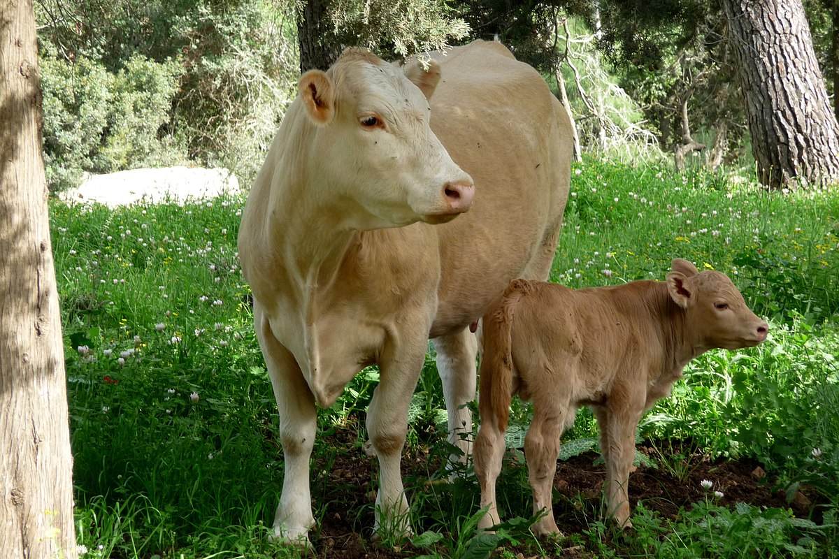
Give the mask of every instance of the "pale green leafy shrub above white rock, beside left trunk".
[(182, 160), (171, 138), (161, 140), (182, 73), (180, 62), (135, 54), (121, 70), (96, 60), (70, 62), (49, 45), (42, 53), (44, 164), (56, 192), (77, 186), (81, 174), (159, 166)]

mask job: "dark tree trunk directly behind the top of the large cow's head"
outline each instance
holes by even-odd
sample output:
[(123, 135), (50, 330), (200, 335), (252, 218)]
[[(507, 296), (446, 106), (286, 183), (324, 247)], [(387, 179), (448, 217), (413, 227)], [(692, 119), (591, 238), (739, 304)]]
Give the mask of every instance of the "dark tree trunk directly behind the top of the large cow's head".
[(335, 40), (327, 8), (329, 0), (306, 0), (297, 12), (297, 41), (300, 45), (300, 72), (326, 70), (338, 60), (340, 49)]

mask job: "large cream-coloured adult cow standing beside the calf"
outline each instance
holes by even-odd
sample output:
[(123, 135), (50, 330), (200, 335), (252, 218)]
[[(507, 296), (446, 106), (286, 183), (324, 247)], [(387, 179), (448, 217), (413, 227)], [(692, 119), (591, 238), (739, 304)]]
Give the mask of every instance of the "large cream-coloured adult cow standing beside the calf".
[(239, 233), (279, 406), (274, 533), (308, 545), (316, 406), (378, 364), (367, 411), (380, 464), (376, 522), (408, 534), (399, 462), (427, 339), (451, 441), (468, 453), (459, 435), (472, 430), (462, 406), (475, 396), (469, 326), (514, 277), (547, 277), (568, 194), (570, 121), (535, 70), (480, 41), (425, 68), (350, 49), (327, 72), (303, 75), (299, 93)]

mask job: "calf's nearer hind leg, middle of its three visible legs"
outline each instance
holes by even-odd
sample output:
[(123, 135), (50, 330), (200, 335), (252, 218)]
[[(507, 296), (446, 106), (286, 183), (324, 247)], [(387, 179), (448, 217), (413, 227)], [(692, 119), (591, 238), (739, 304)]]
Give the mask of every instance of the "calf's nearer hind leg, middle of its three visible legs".
[[(540, 405), (541, 404), (541, 405)], [(556, 458), (560, 454), (560, 435), (565, 424), (563, 406), (556, 402), (534, 402), (533, 422), (524, 437), (524, 458), (528, 479), (533, 489), (534, 515), (543, 514), (531, 530), (534, 534), (555, 534), (560, 531), (554, 520), (552, 491)], [(567, 412), (567, 406), (565, 406)]]

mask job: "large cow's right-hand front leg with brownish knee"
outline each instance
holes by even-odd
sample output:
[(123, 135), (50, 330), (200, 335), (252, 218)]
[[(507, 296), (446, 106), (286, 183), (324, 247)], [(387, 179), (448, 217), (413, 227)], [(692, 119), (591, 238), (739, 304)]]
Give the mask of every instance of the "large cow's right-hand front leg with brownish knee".
[(408, 499), (400, 463), (408, 430), (408, 408), (425, 360), (427, 342), (385, 349), (379, 362), (379, 383), (367, 408), (367, 435), (378, 456), (379, 490), (376, 531), (396, 538), (409, 537)]

